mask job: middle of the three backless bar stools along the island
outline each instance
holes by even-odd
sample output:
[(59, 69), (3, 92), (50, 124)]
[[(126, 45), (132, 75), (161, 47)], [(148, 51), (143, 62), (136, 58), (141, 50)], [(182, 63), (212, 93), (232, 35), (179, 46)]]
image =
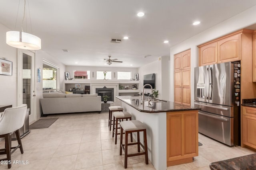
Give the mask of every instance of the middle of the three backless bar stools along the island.
[[(126, 121), (132, 120), (132, 115), (130, 113), (128, 113), (127, 111), (116, 111), (113, 112), (113, 132), (112, 132), (112, 137), (114, 137), (115, 134), (115, 144), (117, 142), (117, 135), (120, 135), (120, 133), (117, 133), (117, 130), (120, 129), (120, 127), (118, 127), (118, 121), (120, 122), (121, 120), (124, 121), (124, 119), (126, 119)], [(131, 142), (132, 142), (132, 133), (130, 133), (130, 137), (131, 137)]]

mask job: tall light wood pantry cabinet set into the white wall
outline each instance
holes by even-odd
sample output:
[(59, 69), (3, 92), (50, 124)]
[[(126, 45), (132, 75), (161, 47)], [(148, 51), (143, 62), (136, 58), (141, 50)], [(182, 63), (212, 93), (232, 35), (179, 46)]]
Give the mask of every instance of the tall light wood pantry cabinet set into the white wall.
[(174, 102), (190, 106), (190, 49), (174, 55)]

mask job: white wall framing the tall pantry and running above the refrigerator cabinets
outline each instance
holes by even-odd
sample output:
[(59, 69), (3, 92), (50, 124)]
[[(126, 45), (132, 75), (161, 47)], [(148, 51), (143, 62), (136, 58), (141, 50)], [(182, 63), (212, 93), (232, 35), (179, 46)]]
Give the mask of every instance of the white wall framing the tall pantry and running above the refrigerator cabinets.
[[(198, 45), (256, 23), (256, 6), (170, 48), (170, 101), (174, 101), (174, 55), (191, 49), (191, 103), (194, 103), (194, 67), (198, 66)], [(203, 24), (203, 22), (201, 23)], [(199, 25), (200, 26), (200, 25)]]

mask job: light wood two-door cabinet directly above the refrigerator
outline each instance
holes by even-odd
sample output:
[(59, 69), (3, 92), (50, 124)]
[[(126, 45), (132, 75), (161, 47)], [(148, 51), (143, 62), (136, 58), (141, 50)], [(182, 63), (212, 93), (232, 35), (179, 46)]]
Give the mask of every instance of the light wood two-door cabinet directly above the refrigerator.
[(242, 49), (247, 47), (245, 39), (252, 32), (250, 29), (241, 29), (199, 45), (199, 66), (242, 60)]

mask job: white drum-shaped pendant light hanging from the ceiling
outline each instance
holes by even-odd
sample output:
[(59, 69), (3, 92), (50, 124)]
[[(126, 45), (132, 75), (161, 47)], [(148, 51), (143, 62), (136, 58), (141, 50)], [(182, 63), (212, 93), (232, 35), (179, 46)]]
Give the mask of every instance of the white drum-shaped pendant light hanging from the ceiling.
[[(24, 0), (24, 13), (23, 13), (22, 25), (25, 18), (25, 13), (26, 13), (26, 0)], [(17, 14), (17, 17), (18, 17), (18, 14)], [(22, 32), (20, 31), (6, 32), (6, 43), (18, 49), (27, 49), (27, 50), (41, 49), (41, 39), (36, 35), (23, 32), (22, 25), (21, 25)], [(30, 21), (30, 25), (31, 25), (31, 21)]]

